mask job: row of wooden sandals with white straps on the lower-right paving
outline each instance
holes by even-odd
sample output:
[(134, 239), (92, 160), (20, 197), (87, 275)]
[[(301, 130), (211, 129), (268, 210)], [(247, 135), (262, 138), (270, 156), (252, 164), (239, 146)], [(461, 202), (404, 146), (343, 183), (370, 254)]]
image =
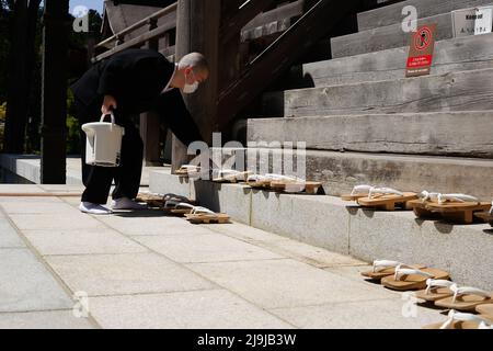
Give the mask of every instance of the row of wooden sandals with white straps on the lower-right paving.
[(417, 299), (450, 310), (446, 320), (424, 329), (493, 329), (493, 293), (459, 286), (445, 271), (381, 260), (362, 275), (390, 290), (413, 291)]

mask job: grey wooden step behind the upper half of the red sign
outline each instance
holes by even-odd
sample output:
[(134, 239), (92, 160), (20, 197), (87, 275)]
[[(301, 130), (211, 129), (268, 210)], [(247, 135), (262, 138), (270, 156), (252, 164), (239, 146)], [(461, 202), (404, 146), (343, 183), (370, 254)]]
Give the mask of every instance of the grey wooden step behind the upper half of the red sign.
[[(492, 2), (493, 3), (493, 2)], [(419, 25), (437, 24), (436, 39), (454, 37), (452, 19), (450, 12), (428, 16), (417, 21)], [(409, 46), (412, 33), (402, 31), (400, 23), (368, 30), (355, 34), (334, 37), (331, 39), (332, 57), (347, 57), (366, 53), (381, 52), (389, 48)]]

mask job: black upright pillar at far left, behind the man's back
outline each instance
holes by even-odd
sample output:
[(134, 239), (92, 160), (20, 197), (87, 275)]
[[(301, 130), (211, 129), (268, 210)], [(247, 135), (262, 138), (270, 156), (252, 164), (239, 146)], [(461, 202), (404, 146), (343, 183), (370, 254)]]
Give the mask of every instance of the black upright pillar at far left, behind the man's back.
[(69, 0), (45, 0), (43, 16), (42, 184), (66, 183)]

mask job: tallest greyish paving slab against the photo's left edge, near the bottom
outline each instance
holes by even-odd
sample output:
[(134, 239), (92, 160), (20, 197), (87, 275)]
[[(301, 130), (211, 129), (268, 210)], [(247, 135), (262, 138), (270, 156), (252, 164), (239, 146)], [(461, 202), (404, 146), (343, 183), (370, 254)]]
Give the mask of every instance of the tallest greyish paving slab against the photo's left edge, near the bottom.
[(0, 313), (73, 306), (48, 270), (27, 249), (0, 249)]

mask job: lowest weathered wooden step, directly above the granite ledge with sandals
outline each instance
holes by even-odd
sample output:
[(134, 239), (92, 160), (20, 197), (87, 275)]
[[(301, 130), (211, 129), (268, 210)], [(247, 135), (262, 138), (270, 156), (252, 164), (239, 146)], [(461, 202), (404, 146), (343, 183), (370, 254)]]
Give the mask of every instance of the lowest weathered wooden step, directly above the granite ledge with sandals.
[[(493, 199), (493, 160), (325, 150), (249, 148), (248, 169), (288, 173), (320, 181), (326, 194), (339, 196), (355, 185), (371, 184), (402, 191), (466, 193)], [(289, 161), (289, 163), (288, 163)], [(289, 171), (300, 169), (305, 172)]]

